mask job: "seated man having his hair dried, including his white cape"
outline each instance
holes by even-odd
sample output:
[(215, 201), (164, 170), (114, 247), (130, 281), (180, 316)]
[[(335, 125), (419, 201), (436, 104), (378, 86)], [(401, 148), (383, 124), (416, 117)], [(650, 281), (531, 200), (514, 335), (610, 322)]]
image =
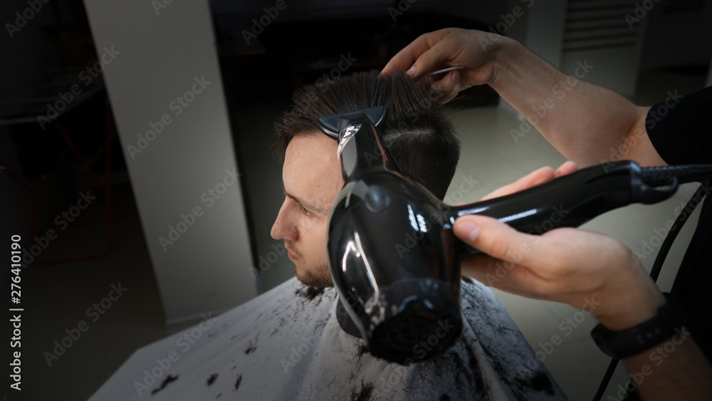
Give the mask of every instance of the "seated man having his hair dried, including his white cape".
[[(276, 126), (285, 200), (271, 234), (285, 241), (298, 279), (201, 323), (199, 338), (194, 328), (189, 338), (181, 333), (138, 351), (92, 399), (565, 399), (501, 303), (471, 279), (461, 283), (462, 333), (436, 358), (387, 363), (368, 353), (365, 340), (342, 329), (345, 311), (337, 308), (330, 280), (326, 229), (344, 183), (336, 141), (315, 120), (389, 103), (382, 129), (389, 152), (438, 197), (454, 175), (459, 142), (446, 110), (403, 73), (326, 80), (299, 90), (293, 100)], [(538, 170), (500, 194), (573, 168)]]

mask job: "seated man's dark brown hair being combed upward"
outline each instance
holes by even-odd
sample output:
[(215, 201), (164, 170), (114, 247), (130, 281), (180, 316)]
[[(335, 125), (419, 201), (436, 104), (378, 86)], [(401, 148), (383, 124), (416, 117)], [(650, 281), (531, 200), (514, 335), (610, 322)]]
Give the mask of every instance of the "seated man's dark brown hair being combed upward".
[(460, 157), (460, 141), (450, 110), (429, 96), (424, 81), (402, 71), (367, 71), (305, 85), (292, 96), (293, 107), (274, 124), (278, 157), (295, 135), (320, 132), (316, 120), (328, 115), (388, 104), (381, 125), (386, 147), (400, 169), (443, 199)]

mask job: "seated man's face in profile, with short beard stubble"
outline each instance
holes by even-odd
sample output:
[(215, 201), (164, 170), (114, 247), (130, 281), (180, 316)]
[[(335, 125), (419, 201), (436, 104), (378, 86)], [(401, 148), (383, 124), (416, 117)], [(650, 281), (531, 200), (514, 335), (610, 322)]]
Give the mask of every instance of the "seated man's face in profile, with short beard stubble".
[(308, 286), (332, 286), (326, 252), (331, 204), (344, 185), (336, 141), (321, 132), (290, 140), (282, 167), (284, 202), (272, 231), (283, 239), (297, 278)]

